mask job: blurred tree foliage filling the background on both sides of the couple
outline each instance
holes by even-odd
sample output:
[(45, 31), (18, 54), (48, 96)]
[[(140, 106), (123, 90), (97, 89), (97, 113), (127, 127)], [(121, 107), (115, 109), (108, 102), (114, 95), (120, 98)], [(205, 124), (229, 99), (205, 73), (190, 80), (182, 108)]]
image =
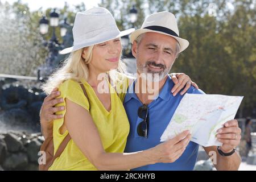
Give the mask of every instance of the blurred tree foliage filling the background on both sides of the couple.
[[(256, 107), (256, 2), (253, 0), (102, 0), (114, 16), (119, 30), (131, 28), (129, 10), (138, 10), (135, 28), (140, 28), (145, 16), (158, 11), (174, 13), (180, 37), (189, 41), (189, 47), (180, 54), (171, 72), (184, 72), (209, 94), (245, 96), (241, 115), (250, 115)], [(67, 16), (73, 23), (77, 11), (68, 5), (57, 9), (60, 19)], [(49, 15), (51, 9), (46, 10)], [(47, 50), (39, 35), (38, 12), (30, 12), (20, 1), (9, 5), (0, 3), (0, 72), (33, 75), (33, 69), (42, 64)], [(60, 42), (59, 28), (56, 35)], [(52, 35), (45, 36), (48, 40)], [(15, 50), (15, 51), (14, 51)], [(11, 60), (11, 61), (10, 61)], [(242, 113), (243, 111), (243, 113)]]

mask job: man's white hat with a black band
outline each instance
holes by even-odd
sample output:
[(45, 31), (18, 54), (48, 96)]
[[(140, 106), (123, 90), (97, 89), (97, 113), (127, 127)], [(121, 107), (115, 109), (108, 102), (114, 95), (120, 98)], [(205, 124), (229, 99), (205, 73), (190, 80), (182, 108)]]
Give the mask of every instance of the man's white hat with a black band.
[(146, 32), (156, 32), (159, 34), (172, 36), (180, 44), (180, 52), (184, 51), (188, 45), (188, 40), (179, 37), (179, 29), (174, 14), (168, 11), (151, 14), (144, 20), (141, 28), (135, 30), (130, 36), (130, 42), (138, 38), (139, 35)]

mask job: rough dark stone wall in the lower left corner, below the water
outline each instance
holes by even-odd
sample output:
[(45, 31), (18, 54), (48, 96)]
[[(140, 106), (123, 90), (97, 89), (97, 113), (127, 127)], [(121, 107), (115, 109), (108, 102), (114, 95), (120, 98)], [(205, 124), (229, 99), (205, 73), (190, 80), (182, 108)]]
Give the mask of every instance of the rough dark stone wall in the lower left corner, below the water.
[(10, 131), (0, 134), (0, 171), (38, 170), (38, 152), (43, 140), (41, 133)]

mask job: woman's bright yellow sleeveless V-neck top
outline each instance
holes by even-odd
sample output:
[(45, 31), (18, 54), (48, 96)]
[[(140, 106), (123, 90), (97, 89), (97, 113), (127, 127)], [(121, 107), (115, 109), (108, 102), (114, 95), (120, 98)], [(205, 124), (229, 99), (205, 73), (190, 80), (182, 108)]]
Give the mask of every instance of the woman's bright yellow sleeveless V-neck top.
[[(118, 76), (122, 77), (122, 81), (118, 82), (119, 85), (116, 86), (119, 86), (120, 90), (122, 88), (123, 90), (127, 89), (129, 79), (121, 73), (118, 73)], [(68, 100), (84, 107), (84, 109), (90, 112), (90, 115), (93, 118), (105, 151), (122, 153), (125, 150), (126, 139), (130, 130), (129, 121), (122, 104), (125, 98), (125, 92), (117, 94), (115, 92), (116, 89), (109, 84), (109, 88), (111, 89), (110, 95), (112, 108), (110, 111), (107, 111), (88, 82), (85, 80), (81, 80), (81, 82), (84, 84), (90, 102), (88, 102), (87, 98), (84, 96), (84, 92), (77, 81), (66, 80), (59, 86), (59, 91), (61, 92), (60, 97), (63, 97), (64, 104), (59, 104), (58, 106), (65, 106), (65, 98), (68, 98)], [(63, 114), (64, 116), (65, 110), (59, 111), (57, 114)], [(53, 121), (53, 143), (55, 152), (68, 134), (68, 131), (65, 131), (64, 134), (61, 134), (59, 131), (63, 123), (64, 118), (55, 119)], [(59, 158), (55, 159), (49, 170), (97, 169), (90, 163), (86, 156), (82, 154), (80, 149), (71, 139), (63, 153)]]

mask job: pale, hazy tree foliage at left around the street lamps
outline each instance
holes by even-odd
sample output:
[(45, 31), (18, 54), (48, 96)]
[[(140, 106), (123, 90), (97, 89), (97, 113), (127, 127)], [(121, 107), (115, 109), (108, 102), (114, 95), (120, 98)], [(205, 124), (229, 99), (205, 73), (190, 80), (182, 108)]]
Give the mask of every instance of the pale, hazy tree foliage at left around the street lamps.
[[(47, 9), (45, 14), (49, 17), (52, 9)], [(57, 9), (60, 20), (67, 18), (73, 23), (76, 11), (84, 11), (85, 5), (75, 6), (75, 11), (66, 4), (63, 9)], [(48, 55), (48, 49), (43, 46), (43, 36), (39, 33), (39, 20), (42, 10), (30, 12), (28, 5), (16, 1), (13, 5), (0, 3), (0, 73), (11, 75), (36, 76), (39, 65), (42, 65)], [(44, 35), (49, 40), (52, 36), (52, 27)], [(56, 28), (56, 36), (60, 43), (60, 28)]]

